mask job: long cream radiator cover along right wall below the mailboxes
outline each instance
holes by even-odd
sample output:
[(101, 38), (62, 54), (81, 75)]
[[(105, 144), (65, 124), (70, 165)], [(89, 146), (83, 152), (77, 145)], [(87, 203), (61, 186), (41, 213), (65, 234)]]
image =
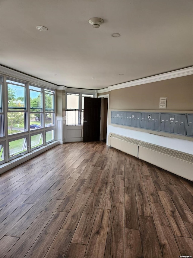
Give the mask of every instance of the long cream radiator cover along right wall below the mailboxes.
[(193, 155), (136, 139), (109, 135), (110, 146), (193, 181)]

